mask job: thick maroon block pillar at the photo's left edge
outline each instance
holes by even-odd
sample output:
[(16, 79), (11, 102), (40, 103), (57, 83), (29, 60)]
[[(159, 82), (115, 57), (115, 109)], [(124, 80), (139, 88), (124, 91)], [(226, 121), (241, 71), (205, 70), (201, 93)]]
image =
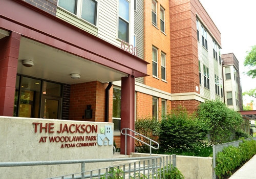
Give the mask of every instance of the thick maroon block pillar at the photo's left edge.
[(20, 37), (12, 32), (0, 39), (0, 116), (13, 116)]

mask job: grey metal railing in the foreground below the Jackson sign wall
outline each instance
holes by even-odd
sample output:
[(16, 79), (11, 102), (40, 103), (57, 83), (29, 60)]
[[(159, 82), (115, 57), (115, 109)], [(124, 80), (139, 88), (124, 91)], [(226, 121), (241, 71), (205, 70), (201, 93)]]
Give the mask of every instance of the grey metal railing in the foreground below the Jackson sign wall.
[[(137, 162), (110, 166), (97, 170), (85, 171), (85, 163), (95, 162), (117, 162), (117, 161), (134, 161)], [(141, 161), (143, 160), (143, 161)], [(152, 160), (152, 163), (150, 162)], [(141, 158), (121, 158), (121, 159), (89, 159), (89, 160), (71, 160), (71, 161), (41, 161), (41, 162), (2, 162), (0, 167), (21, 167), (21, 166), (39, 166), (39, 165), (62, 165), (62, 164), (81, 164), (81, 172), (50, 177), (48, 179), (77, 179), (77, 178), (150, 178), (150, 176), (160, 178), (176, 167), (176, 154), (165, 156), (148, 156)], [(115, 176), (114, 176), (115, 175)], [(133, 176), (132, 176), (133, 175)], [(120, 176), (120, 177), (119, 177)]]

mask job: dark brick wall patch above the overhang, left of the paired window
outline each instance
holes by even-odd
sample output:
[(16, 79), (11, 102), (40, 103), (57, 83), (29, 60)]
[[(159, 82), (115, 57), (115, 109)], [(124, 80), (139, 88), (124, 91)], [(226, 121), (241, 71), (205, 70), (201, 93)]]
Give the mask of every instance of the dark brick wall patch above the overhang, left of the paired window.
[(57, 0), (22, 0), (56, 16)]

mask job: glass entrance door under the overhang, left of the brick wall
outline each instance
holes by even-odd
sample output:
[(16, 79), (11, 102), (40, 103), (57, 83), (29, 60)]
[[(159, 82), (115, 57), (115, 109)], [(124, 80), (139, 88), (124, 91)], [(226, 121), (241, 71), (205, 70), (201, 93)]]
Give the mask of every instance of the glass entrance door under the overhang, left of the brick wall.
[(41, 118), (60, 119), (61, 114), (61, 98), (42, 96)]

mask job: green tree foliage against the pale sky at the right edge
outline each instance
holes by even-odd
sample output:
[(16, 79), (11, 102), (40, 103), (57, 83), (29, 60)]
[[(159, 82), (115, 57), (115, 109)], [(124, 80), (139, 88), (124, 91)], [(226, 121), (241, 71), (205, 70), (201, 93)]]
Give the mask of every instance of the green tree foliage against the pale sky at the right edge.
[[(244, 60), (244, 65), (245, 66), (256, 66), (256, 46), (252, 46), (251, 47), (251, 51), (247, 51), (247, 56), (245, 57), (245, 60)], [(249, 70), (247, 73), (246, 73), (248, 76), (252, 76), (252, 78), (255, 78), (256, 77), (256, 69), (252, 69), (252, 70)]]

